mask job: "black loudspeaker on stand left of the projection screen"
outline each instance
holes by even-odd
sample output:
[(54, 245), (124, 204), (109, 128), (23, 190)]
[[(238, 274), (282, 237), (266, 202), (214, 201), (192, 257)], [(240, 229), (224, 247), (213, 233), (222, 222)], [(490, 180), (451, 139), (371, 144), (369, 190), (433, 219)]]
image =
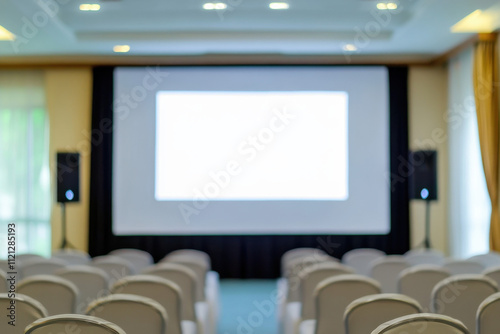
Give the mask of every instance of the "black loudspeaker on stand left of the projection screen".
[(57, 153), (57, 201), (80, 200), (80, 153)]

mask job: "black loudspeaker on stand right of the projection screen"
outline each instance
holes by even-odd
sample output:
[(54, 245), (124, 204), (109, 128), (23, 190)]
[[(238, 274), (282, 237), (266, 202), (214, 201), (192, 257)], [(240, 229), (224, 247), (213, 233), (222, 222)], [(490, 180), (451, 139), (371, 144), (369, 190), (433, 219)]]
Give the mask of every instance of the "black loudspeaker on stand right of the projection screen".
[(437, 152), (410, 152), (410, 199), (437, 200)]

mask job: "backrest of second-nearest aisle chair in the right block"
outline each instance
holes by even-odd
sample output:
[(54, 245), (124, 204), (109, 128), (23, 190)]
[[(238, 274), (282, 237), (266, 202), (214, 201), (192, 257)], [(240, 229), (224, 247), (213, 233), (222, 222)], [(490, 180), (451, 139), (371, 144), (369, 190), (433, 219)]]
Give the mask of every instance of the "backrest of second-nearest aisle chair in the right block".
[(314, 291), (319, 282), (324, 279), (338, 276), (354, 274), (354, 270), (335, 262), (323, 262), (305, 268), (299, 276), (302, 277), (300, 283), (300, 302), (302, 303), (302, 320), (316, 318), (316, 303)]

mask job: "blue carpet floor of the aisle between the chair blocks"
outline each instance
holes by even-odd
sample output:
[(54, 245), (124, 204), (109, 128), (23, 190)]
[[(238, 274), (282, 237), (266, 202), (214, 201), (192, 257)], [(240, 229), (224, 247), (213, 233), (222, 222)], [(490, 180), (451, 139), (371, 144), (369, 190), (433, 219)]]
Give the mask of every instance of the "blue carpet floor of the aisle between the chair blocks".
[(221, 280), (218, 334), (276, 334), (275, 280)]

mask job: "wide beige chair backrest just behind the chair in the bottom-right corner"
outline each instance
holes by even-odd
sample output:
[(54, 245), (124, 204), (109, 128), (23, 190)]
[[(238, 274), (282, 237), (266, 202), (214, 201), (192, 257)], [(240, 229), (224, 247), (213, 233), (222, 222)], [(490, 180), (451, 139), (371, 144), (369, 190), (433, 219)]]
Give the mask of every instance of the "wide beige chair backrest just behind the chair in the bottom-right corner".
[(484, 275), (451, 276), (432, 290), (432, 312), (456, 318), (475, 333), (479, 305), (497, 291), (497, 284)]

